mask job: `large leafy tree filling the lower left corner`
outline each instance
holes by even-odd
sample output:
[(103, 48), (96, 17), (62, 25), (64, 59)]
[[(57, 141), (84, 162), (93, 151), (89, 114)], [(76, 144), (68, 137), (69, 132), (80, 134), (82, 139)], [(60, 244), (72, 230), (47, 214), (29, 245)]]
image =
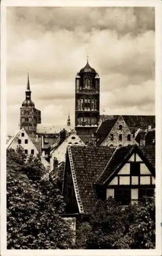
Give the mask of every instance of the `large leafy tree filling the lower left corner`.
[(7, 248), (66, 249), (74, 234), (59, 217), (64, 202), (39, 157), (7, 151)]

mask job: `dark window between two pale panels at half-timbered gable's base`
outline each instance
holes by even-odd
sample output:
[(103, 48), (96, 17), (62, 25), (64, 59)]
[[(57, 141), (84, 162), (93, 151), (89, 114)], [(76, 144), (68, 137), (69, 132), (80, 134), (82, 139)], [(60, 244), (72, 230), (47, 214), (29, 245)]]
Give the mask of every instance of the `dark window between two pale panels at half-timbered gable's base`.
[(131, 189), (115, 188), (114, 189), (114, 199), (117, 202), (121, 202), (122, 205), (130, 204), (131, 203)]

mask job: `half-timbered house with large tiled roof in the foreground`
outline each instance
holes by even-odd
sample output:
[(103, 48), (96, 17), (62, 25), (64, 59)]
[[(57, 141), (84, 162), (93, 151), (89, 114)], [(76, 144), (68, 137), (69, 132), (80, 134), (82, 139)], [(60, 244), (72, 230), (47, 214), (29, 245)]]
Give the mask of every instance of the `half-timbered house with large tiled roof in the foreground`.
[(90, 216), (98, 199), (123, 205), (152, 197), (155, 146), (67, 146), (63, 196), (67, 214)]

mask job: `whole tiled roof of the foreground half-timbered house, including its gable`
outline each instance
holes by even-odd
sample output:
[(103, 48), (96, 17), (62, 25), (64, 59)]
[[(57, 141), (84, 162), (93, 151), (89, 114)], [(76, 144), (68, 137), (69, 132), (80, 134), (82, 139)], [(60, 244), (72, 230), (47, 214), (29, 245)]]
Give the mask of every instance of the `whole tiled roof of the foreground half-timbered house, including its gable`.
[(120, 166), (122, 167), (134, 150), (155, 170), (155, 145), (130, 145), (118, 148), (68, 146), (84, 214), (91, 214), (97, 200), (95, 185), (104, 184), (110, 175), (120, 170)]

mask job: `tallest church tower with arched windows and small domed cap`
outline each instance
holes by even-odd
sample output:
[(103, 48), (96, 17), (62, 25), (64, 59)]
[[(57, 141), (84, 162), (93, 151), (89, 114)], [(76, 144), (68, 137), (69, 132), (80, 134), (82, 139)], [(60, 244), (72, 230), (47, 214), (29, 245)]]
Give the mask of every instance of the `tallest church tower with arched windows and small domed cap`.
[[(76, 75), (75, 129), (79, 136), (96, 132), (100, 119), (100, 77), (88, 63)], [(85, 141), (85, 140), (84, 140)]]

